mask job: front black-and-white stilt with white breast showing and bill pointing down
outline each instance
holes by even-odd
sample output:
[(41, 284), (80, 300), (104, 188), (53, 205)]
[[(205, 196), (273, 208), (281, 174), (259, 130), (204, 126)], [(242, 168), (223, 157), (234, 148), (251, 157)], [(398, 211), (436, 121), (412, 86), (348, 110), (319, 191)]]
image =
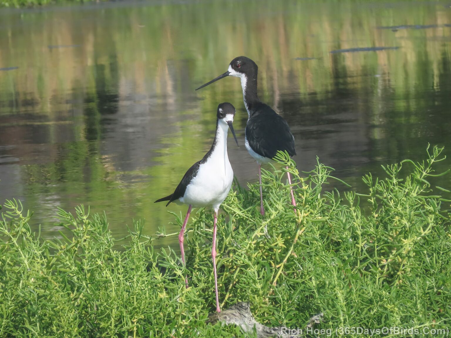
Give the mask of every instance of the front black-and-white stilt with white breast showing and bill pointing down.
[[(228, 102), (223, 102), (218, 105), (216, 113), (216, 135), (210, 150), (203, 156), (202, 160), (194, 163), (188, 169), (172, 194), (155, 201), (155, 203), (168, 201), (166, 206), (171, 202), (188, 205), (188, 211), (179, 233), (179, 245), (184, 266), (184, 232), (191, 209), (193, 207), (211, 207), (214, 210), (212, 260), (217, 312), (221, 312), (221, 309), (219, 307), (218, 280), (216, 274), (216, 222), (219, 207), (226, 199), (232, 187), (233, 169), (227, 154), (227, 133), (230, 128), (238, 146), (238, 140), (232, 124), (235, 112), (235, 107)], [(185, 279), (185, 285), (188, 288), (188, 279)]]

